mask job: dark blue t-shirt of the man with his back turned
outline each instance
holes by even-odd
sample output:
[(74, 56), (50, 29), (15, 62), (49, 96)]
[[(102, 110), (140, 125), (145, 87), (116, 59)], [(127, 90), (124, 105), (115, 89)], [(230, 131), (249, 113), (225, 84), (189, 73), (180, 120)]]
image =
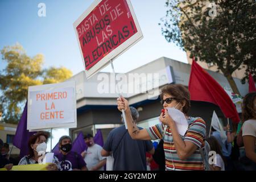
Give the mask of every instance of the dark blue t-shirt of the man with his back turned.
[(125, 126), (121, 126), (110, 131), (103, 148), (106, 151), (115, 150), (114, 171), (146, 171), (146, 152), (152, 150), (153, 144), (150, 140), (132, 139)]

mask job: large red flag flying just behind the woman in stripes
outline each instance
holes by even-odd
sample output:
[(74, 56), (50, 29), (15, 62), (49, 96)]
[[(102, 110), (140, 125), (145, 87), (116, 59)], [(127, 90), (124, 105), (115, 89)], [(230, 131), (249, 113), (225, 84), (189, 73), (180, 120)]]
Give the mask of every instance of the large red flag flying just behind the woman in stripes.
[(193, 101), (205, 101), (216, 104), (226, 118), (240, 122), (236, 107), (225, 90), (193, 59), (188, 90)]

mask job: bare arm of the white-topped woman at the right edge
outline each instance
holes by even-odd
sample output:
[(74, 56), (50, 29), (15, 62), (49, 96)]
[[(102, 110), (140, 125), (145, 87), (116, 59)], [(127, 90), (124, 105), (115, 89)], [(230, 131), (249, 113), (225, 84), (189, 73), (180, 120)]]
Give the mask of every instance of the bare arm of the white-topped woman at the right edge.
[(243, 136), (243, 144), (245, 145), (245, 154), (247, 158), (256, 163), (255, 137), (251, 135)]

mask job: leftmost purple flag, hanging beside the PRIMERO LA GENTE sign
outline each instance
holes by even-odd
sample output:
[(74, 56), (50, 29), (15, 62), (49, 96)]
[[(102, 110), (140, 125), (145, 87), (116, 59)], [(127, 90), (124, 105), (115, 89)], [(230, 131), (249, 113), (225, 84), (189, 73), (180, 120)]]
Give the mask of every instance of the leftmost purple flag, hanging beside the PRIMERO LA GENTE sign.
[(19, 148), (20, 150), (20, 153), (19, 153), (20, 158), (23, 158), (23, 156), (28, 154), (28, 140), (35, 133), (36, 132), (29, 132), (27, 130), (27, 102), (26, 102), (26, 105), (22, 113), (22, 117), (20, 118), (15, 136), (13, 139), (13, 145)]

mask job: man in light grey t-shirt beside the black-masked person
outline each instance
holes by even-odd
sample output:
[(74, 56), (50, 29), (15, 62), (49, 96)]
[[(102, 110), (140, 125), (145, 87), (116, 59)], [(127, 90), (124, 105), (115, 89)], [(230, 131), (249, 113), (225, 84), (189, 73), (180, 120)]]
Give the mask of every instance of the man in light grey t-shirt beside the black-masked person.
[(89, 171), (104, 171), (104, 165), (106, 164), (106, 158), (101, 156), (102, 147), (94, 143), (93, 136), (87, 134), (84, 137), (84, 142), (88, 146), (87, 150), (82, 152), (82, 158), (86, 163)]

